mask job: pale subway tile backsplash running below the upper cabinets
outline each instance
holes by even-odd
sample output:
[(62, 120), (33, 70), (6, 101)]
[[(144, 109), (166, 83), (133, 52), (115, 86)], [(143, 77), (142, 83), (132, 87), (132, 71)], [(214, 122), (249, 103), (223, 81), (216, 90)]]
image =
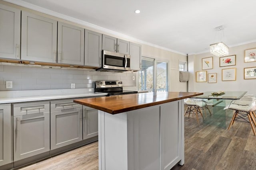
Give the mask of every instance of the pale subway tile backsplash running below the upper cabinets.
[[(136, 73), (0, 65), (0, 91), (67, 89), (71, 83), (76, 88), (94, 88), (96, 80), (122, 80), (125, 87), (136, 86)], [(12, 88), (6, 89), (6, 81), (12, 81)]]

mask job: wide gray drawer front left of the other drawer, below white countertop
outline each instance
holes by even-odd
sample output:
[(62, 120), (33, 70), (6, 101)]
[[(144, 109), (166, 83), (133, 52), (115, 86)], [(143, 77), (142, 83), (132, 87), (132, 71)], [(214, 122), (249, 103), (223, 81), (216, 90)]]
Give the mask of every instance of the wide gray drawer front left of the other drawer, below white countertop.
[(22, 102), (12, 104), (13, 116), (30, 115), (50, 112), (50, 102)]

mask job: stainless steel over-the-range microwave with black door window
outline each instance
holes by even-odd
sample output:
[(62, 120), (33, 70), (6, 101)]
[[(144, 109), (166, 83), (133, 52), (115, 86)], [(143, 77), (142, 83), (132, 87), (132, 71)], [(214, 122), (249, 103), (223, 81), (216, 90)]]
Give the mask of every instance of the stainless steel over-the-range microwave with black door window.
[(102, 67), (96, 71), (125, 72), (130, 70), (130, 55), (102, 50)]

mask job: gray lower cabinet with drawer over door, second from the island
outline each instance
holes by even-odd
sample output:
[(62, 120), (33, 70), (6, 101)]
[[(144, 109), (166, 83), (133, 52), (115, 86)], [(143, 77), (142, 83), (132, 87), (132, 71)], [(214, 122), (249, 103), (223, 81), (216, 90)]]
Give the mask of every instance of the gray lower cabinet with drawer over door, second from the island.
[(51, 101), (51, 150), (82, 141), (82, 105), (73, 99)]

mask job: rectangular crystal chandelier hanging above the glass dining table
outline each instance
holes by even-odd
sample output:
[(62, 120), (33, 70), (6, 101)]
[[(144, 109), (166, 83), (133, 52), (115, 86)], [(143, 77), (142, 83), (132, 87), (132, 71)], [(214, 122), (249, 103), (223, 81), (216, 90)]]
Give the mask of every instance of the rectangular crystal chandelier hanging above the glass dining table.
[(216, 34), (218, 32), (220, 33), (220, 42), (210, 45), (210, 53), (216, 55), (217, 57), (228, 55), (228, 46), (222, 42), (222, 34), (224, 35), (223, 29), (224, 28), (222, 25), (215, 28)]

